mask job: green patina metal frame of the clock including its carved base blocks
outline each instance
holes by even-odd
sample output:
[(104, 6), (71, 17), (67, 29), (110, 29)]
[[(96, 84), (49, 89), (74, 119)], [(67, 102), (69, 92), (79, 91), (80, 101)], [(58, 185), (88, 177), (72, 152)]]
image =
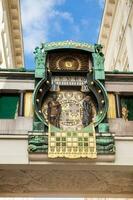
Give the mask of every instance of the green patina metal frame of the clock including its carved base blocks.
[[(106, 113), (108, 110), (108, 97), (107, 92), (104, 87), (105, 72), (104, 72), (104, 56), (101, 52), (102, 46), (95, 44), (89, 45), (88, 43), (74, 42), (74, 41), (64, 41), (64, 42), (51, 42), (43, 43), (42, 46), (35, 49), (35, 61), (36, 61), (36, 70), (35, 70), (35, 90), (33, 94), (33, 105), (35, 108), (35, 117), (33, 122), (33, 135), (29, 135), (29, 152), (30, 153), (47, 153), (48, 152), (48, 123), (44, 119), (43, 114), (40, 112), (41, 103), (38, 103), (36, 100), (39, 96), (40, 89), (43, 88), (45, 95), (50, 89), (50, 78), (47, 71), (46, 56), (47, 53), (51, 50), (58, 49), (80, 49), (88, 51), (92, 54), (93, 59), (93, 70), (88, 72), (88, 87), (93, 91), (93, 86), (95, 86), (95, 92), (100, 91), (104, 103), (102, 110), (99, 110), (97, 116), (95, 117), (95, 127), (98, 126), (98, 131), (100, 135), (96, 136), (97, 152), (98, 154), (114, 154), (115, 153), (115, 144), (114, 137), (110, 134), (106, 136), (106, 133), (109, 131), (108, 123), (102, 123), (106, 118)], [(91, 77), (91, 78), (90, 78)], [(100, 82), (102, 80), (102, 82)], [(93, 83), (93, 84), (92, 84)], [(98, 99), (98, 96), (97, 96)], [(99, 103), (100, 104), (100, 103)], [(50, 126), (51, 131), (59, 132), (62, 131), (59, 128)], [(81, 131), (86, 132), (90, 131), (90, 127), (87, 126)], [(35, 135), (34, 133), (42, 133), (40, 135)], [(105, 134), (105, 135), (103, 135)]]

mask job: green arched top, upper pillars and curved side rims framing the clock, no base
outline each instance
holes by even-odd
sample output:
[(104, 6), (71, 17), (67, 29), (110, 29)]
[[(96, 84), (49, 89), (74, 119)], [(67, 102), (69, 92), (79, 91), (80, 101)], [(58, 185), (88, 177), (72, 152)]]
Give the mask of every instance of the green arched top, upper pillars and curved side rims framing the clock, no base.
[[(38, 112), (36, 96), (37, 96), (38, 90), (41, 88), (42, 83), (47, 81), (46, 52), (53, 50), (53, 49), (57, 50), (60, 48), (62, 48), (62, 49), (64, 49), (64, 48), (81, 49), (81, 50), (89, 51), (93, 55), (93, 63), (94, 63), (93, 79), (95, 81), (95, 84), (98, 85), (98, 87), (101, 89), (104, 99), (105, 99), (105, 104), (104, 104), (105, 106), (102, 110), (102, 113), (98, 113), (98, 115), (95, 118), (95, 126), (97, 126), (104, 119), (107, 109), (108, 109), (107, 93), (106, 93), (106, 90), (105, 90), (103, 84), (99, 81), (99, 80), (104, 80), (105, 74), (104, 74), (104, 65), (103, 65), (104, 57), (101, 52), (102, 46), (98, 45), (98, 44), (89, 45), (88, 43), (81, 43), (81, 42), (74, 42), (74, 41), (51, 42), (51, 43), (43, 43), (40, 48), (37, 47), (35, 49), (35, 55), (36, 55), (35, 56), (35, 60), (36, 60), (35, 78), (42, 78), (36, 85), (36, 88), (35, 88), (35, 91), (33, 94), (33, 97), (34, 97), (33, 104), (35, 107), (36, 116), (38, 117), (38, 119), (41, 122), (43, 122), (47, 126), (44, 116)], [(91, 89), (91, 83), (88, 82), (88, 86)], [(47, 86), (45, 87), (45, 90), (48, 91)], [(93, 90), (92, 90), (92, 92), (93, 92)]]

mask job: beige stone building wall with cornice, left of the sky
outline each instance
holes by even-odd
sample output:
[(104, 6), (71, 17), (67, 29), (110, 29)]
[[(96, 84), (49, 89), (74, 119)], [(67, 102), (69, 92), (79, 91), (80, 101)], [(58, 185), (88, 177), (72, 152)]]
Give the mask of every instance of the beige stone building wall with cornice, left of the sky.
[(24, 66), (19, 0), (0, 0), (0, 68)]

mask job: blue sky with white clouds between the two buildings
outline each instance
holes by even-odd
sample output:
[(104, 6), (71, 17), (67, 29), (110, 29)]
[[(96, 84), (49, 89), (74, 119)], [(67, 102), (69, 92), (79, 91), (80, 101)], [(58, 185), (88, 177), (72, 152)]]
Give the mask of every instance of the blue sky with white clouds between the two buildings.
[(34, 49), (44, 42), (97, 42), (105, 0), (20, 0), (25, 67), (34, 69)]

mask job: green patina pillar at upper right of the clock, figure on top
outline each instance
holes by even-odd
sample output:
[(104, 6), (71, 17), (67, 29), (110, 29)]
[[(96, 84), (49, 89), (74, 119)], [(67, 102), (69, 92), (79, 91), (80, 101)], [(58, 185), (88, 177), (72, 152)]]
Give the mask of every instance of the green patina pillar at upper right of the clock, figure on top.
[(102, 46), (100, 44), (94, 45), (95, 52), (92, 53), (93, 56), (93, 78), (94, 80), (105, 80), (104, 72), (104, 55), (102, 53)]

